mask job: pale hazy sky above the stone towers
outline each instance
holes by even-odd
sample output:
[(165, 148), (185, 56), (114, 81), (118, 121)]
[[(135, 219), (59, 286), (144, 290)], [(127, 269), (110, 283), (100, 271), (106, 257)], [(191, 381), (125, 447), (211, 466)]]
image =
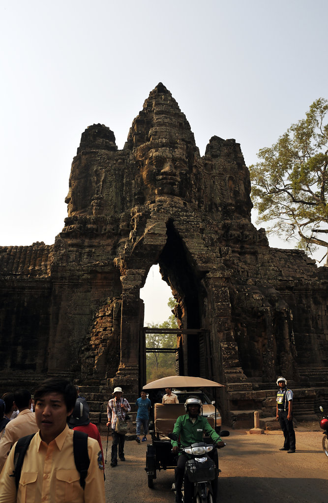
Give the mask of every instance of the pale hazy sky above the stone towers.
[(256, 162), (328, 98), (327, 19), (326, 0), (2, 1), (0, 245), (54, 242), (81, 133), (122, 148), (159, 81), (201, 155), (217, 135)]

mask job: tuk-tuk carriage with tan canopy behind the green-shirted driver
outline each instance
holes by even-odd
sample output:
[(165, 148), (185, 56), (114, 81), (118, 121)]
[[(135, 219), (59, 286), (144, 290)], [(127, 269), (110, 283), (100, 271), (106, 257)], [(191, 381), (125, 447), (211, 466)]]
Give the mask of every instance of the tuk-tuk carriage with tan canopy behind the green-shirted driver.
[[(158, 388), (180, 388), (180, 389), (202, 389), (222, 387), (219, 384), (201, 377), (169, 376), (157, 379), (143, 386), (144, 390)], [(146, 453), (146, 473), (148, 477), (148, 487), (153, 487), (153, 480), (156, 478), (157, 470), (174, 469), (177, 466), (177, 458), (172, 454), (171, 440), (168, 437), (173, 432), (175, 422), (179, 415), (186, 413), (184, 403), (161, 404), (155, 403), (153, 421), (149, 424), (151, 434), (151, 445), (147, 446)], [(216, 414), (208, 417), (212, 428), (218, 430), (216, 425)]]

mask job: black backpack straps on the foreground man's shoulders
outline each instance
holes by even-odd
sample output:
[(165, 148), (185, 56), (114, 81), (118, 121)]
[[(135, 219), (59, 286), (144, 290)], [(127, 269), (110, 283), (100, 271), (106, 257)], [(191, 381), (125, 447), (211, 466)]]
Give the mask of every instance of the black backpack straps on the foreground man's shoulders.
[[(34, 437), (32, 435), (27, 435), (22, 437), (17, 441), (15, 447), (14, 456), (14, 471), (11, 477), (15, 477), (16, 489), (18, 489), (19, 481), (21, 478), (21, 471), (24, 462), (24, 456), (29, 448), (30, 442)], [(86, 486), (86, 477), (88, 475), (88, 469), (90, 465), (90, 459), (88, 454), (88, 435), (83, 432), (74, 430), (73, 434), (73, 452), (74, 452), (74, 463), (76, 470), (79, 473), (79, 483), (84, 489)]]

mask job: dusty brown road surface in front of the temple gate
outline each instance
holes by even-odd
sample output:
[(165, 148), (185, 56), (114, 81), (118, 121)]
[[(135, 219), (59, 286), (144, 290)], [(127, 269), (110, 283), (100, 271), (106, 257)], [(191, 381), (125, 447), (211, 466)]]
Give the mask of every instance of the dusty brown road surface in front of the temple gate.
[[(316, 431), (313, 431), (316, 430)], [(226, 447), (219, 452), (220, 503), (327, 503), (328, 458), (322, 451), (318, 425), (300, 424), (296, 432), (296, 453), (280, 452), (283, 435), (247, 435), (230, 431)], [(107, 438), (103, 438), (104, 455)], [(126, 462), (110, 466), (108, 443), (106, 464), (107, 503), (174, 503), (171, 491), (174, 471), (160, 471), (154, 488), (147, 486), (144, 471), (147, 443), (125, 443)]]

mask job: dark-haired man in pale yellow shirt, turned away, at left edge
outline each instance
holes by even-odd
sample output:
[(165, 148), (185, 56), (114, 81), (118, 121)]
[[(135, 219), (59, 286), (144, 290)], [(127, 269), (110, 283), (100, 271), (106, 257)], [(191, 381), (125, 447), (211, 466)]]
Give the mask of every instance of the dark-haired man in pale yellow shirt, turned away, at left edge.
[(35, 413), (31, 411), (32, 398), (29, 390), (19, 389), (15, 391), (14, 400), (20, 413), (6, 425), (2, 432), (0, 439), (0, 472), (15, 442), (21, 437), (25, 437), (25, 435), (38, 431)]

